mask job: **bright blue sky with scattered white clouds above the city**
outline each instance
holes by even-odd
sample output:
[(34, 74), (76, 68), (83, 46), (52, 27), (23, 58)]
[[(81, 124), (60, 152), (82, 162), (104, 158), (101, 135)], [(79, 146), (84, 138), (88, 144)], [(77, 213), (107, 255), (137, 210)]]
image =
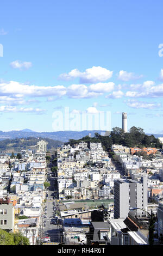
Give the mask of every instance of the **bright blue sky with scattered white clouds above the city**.
[[(54, 131), (55, 111), (110, 111), (163, 133), (162, 1), (1, 3), (0, 130)], [(163, 47), (162, 47), (163, 48)], [(162, 51), (163, 52), (163, 51)]]

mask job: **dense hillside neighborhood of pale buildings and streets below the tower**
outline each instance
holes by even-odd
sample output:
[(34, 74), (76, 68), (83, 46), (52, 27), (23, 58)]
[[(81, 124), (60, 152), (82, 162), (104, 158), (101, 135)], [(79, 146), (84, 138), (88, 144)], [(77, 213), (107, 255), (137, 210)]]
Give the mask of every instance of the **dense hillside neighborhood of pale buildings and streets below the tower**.
[(1, 153), (0, 229), (30, 245), (148, 245), (152, 218), (162, 244), (162, 151), (91, 141)]

